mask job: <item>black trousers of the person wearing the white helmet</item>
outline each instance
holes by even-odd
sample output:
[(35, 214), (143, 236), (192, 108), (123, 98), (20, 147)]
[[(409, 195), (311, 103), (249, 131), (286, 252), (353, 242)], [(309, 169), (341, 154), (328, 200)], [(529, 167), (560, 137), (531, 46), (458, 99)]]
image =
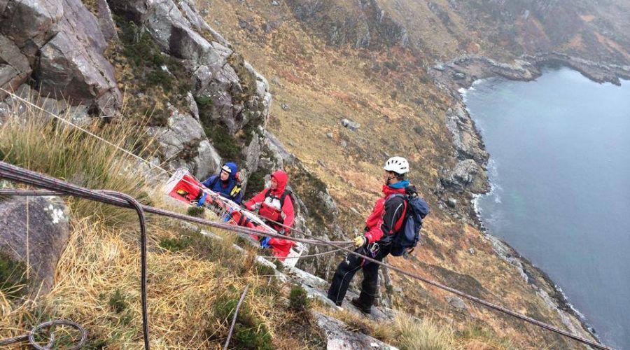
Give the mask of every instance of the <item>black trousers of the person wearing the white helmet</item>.
[[(365, 255), (365, 248), (358, 248), (357, 253)], [(388, 246), (381, 246), (374, 259), (382, 261), (389, 254)], [(370, 256), (367, 254), (367, 256)], [(353, 254), (348, 254), (346, 258), (339, 263), (335, 275), (332, 276), (332, 283), (328, 289), (328, 299), (335, 302), (337, 306), (341, 306), (348, 291), (348, 286), (359, 269), (363, 270), (363, 282), (361, 283), (361, 293), (359, 294), (359, 303), (369, 308), (374, 304), (377, 297), (379, 286), (379, 266), (374, 262), (363, 261)], [(363, 263), (363, 264), (362, 264)]]

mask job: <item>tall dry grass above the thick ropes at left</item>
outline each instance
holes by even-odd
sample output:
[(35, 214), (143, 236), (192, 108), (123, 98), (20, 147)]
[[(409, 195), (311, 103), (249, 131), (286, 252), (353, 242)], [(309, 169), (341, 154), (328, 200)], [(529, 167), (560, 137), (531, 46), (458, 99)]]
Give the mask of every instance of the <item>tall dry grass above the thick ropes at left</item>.
[[(29, 101), (38, 104), (33, 97)], [(52, 118), (41, 109), (28, 104), (22, 106), (25, 109), (23, 113), (13, 113), (6, 123), (0, 125), (0, 158), (4, 161), (79, 186), (118, 190), (141, 202), (147, 202), (153, 195), (150, 183), (155, 179), (150, 176), (159, 173), (149, 174), (146, 165), (138, 164), (139, 161), (132, 156)], [(59, 117), (64, 120), (72, 118), (69, 112)], [(141, 125), (121, 119), (106, 127), (97, 121), (85, 128), (120, 148), (150, 155), (147, 151), (150, 142), (143, 132), (139, 132)], [(159, 197), (153, 196), (153, 199), (159, 200)], [(109, 223), (117, 223), (136, 215), (132, 211), (97, 202), (80, 202), (75, 214), (82, 217), (97, 216)]]

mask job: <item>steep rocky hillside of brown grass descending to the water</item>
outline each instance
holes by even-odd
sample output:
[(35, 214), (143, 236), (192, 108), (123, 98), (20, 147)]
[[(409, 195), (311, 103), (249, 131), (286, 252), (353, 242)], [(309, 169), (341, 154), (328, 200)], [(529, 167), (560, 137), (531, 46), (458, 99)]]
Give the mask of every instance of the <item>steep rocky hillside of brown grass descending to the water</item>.
[[(404, 155), (411, 163), (410, 179), (432, 214), (423, 227), (423, 245), (414, 255), (388, 262), (591, 337), (553, 282), (518, 253), (486, 237), (477, 223), (470, 201), (488, 188), (484, 172), (488, 155), (461, 109), (456, 89), (474, 78), (497, 74), (497, 65), (481, 71), (474, 64), (460, 69), (458, 64), (465, 66), (477, 58), (458, 57), (478, 54), (511, 63), (521, 54), (558, 51), (605, 64), (628, 64), (630, 24), (622, 13), (630, 8), (624, 1), (606, 1), (608, 6), (600, 7), (589, 1), (538, 0), (521, 1), (519, 6), (451, 0), (35, 2), (40, 7), (0, 1), (0, 41), (6, 44), (0, 50), (3, 89), (83, 125), (104, 116), (109, 124), (97, 122), (94, 130), (118, 125), (131, 131), (132, 135), (120, 132), (123, 139), (116, 143), (169, 170), (185, 166), (204, 178), (223, 161), (237, 160), (247, 179), (246, 197), (262, 188), (272, 169), (283, 167), (299, 198), (298, 228), (323, 239), (348, 239), (363, 228), (365, 215), (380, 195), (382, 162)], [(29, 24), (28, 31), (22, 30)], [(569, 60), (559, 57), (554, 62)], [(439, 66), (438, 61), (447, 68), (431, 68)], [(540, 64), (549, 61), (540, 59)], [(526, 78), (535, 77), (536, 64), (526, 69)], [(453, 80), (455, 73), (465, 74), (465, 79)], [(120, 183), (86, 180), (85, 174), (92, 174), (87, 171), (90, 162), (80, 158), (80, 152), (67, 153), (79, 157), (77, 164), (85, 161), (73, 173), (46, 165), (48, 159), (64, 158), (63, 153), (29, 158), (50, 147), (25, 137), (22, 148), (16, 148), (21, 134), (20, 122), (14, 119), (21, 120), (25, 108), (4, 92), (0, 97), (4, 99), (0, 127), (3, 135), (14, 137), (0, 142), (1, 159), (160, 204), (152, 186), (121, 186), (129, 184), (127, 177)], [(358, 123), (356, 130), (342, 125), (346, 118)], [(116, 138), (117, 133), (106, 137)], [(83, 147), (78, 145), (79, 150)], [(92, 147), (92, 152), (98, 150)], [(139, 170), (120, 174), (154, 176)], [(82, 209), (85, 202), (66, 204), (71, 212), (69, 248), (61, 255), (55, 287), (41, 300), (27, 298), (22, 306), (3, 297), (1, 319), (10, 328), (0, 329), (1, 334), (15, 335), (48, 316), (72, 316), (92, 330), (95, 347), (139, 346), (139, 296), (134, 286), (138, 252), (131, 247), (133, 235), (125, 233), (129, 226), (120, 228), (103, 221), (104, 216), (88, 214)], [(314, 349), (323, 346), (321, 328), (300, 321), (301, 314), (284, 301), (290, 297), (290, 283), (268, 278), (276, 272), (254, 264), (253, 250), (247, 254), (232, 250), (234, 237), (218, 232), (225, 243), (216, 250), (208, 248), (216, 244), (200, 238), (197, 228), (191, 233), (156, 221), (151, 229), (155, 291), (150, 297), (155, 300), (158, 346), (221, 346), (230, 312), (225, 314), (220, 305), (233, 302), (246, 284), (254, 289), (254, 296), (248, 297), (253, 315), (241, 323), (258, 327), (262, 333), (252, 337), (265, 342), (253, 348), (295, 349), (307, 342)], [(80, 232), (90, 232), (90, 239)], [(97, 255), (87, 253), (99, 246), (110, 248)], [(309, 252), (319, 249), (313, 246)], [(230, 262), (234, 255), (239, 258)], [(109, 263), (99, 267), (103, 259)], [(340, 259), (342, 255), (335, 254), (301, 261), (298, 267), (330, 281)], [(114, 283), (120, 272), (125, 278)], [(381, 307), (402, 309), (434, 328), (448, 329), (462, 349), (578, 347), (406, 276), (385, 271), (383, 277)], [(66, 296), (69, 290), (83, 288), (78, 281), (86, 280), (92, 288)], [(116, 306), (120, 293), (127, 295), (123, 308)], [(225, 300), (217, 301), (221, 297)], [(315, 309), (385, 342), (394, 342), (409, 329), (388, 323), (396, 329), (394, 334), (379, 335), (374, 324), (357, 326), (356, 317), (335, 314), (321, 304)], [(90, 314), (99, 316), (93, 319)], [(217, 332), (210, 331), (213, 327)]]

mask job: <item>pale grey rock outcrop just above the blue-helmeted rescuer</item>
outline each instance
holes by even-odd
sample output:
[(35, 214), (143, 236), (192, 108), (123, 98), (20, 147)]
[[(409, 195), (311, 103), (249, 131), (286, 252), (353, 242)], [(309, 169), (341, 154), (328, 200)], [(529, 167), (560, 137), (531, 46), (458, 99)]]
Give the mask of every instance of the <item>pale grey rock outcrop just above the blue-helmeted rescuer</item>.
[(168, 127), (148, 127), (155, 137), (162, 158), (170, 169), (186, 167), (198, 179), (213, 174), (221, 167), (221, 157), (208, 141), (203, 127), (193, 116), (170, 107)]

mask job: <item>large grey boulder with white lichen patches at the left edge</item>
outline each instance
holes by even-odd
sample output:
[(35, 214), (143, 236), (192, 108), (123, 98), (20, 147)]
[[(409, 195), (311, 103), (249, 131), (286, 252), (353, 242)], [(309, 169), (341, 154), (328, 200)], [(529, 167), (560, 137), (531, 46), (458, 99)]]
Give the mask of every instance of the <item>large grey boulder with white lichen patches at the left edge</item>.
[[(68, 209), (59, 197), (0, 200), (0, 252), (28, 265), (31, 290), (50, 291), (69, 239)], [(41, 287), (41, 289), (40, 289)]]

